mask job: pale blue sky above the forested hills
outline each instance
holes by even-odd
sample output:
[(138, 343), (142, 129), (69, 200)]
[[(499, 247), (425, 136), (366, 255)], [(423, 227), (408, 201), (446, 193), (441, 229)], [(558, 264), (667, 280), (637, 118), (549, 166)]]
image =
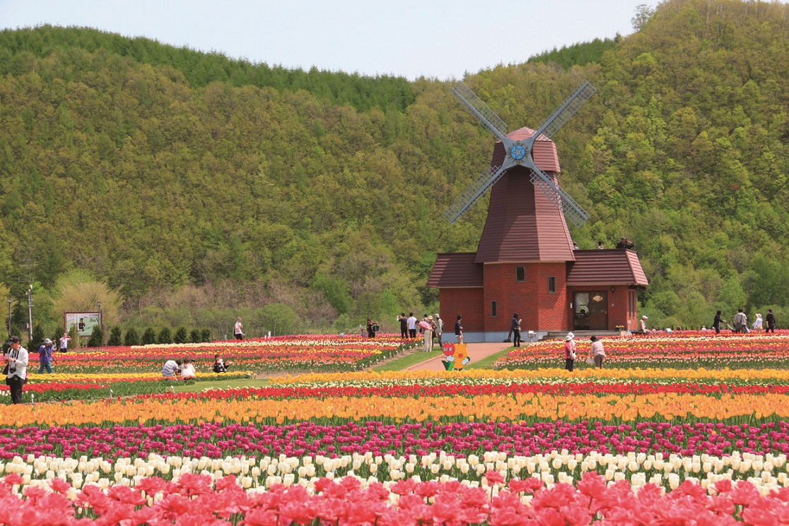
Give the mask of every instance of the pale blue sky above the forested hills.
[(440, 80), (628, 35), (656, 0), (0, 0), (0, 27), (99, 28), (288, 68)]

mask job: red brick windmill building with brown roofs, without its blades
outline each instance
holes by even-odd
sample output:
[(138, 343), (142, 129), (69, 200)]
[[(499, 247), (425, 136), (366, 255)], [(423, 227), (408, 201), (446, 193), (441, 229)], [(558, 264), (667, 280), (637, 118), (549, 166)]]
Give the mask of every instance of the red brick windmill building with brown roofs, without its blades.
[[(510, 139), (533, 133), (513, 131)], [(499, 141), (492, 165), (501, 165)], [(534, 142), (535, 164), (556, 181), (559, 161), (552, 140)], [(491, 189), (488, 218), (477, 252), (438, 254), (428, 287), (439, 289), (447, 324), (463, 315), (466, 342), (506, 338), (513, 313), (521, 330), (614, 331), (635, 329), (636, 290), (646, 287), (633, 250), (574, 250), (564, 219), (529, 180), (529, 169), (515, 166)]]

